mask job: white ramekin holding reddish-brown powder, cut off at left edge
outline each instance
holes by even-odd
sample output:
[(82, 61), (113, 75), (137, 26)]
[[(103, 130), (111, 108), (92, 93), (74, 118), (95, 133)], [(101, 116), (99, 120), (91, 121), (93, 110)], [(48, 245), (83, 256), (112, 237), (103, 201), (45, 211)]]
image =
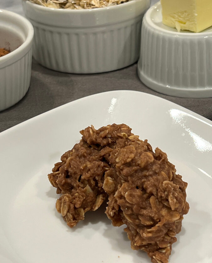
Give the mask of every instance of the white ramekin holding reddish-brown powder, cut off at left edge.
[(11, 51), (0, 57), (0, 111), (22, 99), (30, 86), (33, 35), (26, 18), (0, 9), (0, 48)]

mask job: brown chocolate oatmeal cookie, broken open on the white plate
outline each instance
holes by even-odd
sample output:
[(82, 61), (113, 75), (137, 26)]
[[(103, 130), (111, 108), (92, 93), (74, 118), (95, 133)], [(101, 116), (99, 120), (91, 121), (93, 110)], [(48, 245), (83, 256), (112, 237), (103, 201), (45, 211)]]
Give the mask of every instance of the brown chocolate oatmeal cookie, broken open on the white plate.
[(125, 124), (80, 131), (81, 141), (61, 157), (48, 175), (62, 193), (56, 208), (70, 227), (98, 209), (124, 229), (133, 250), (144, 250), (153, 263), (167, 263), (171, 245), (188, 213), (187, 183), (166, 153), (153, 152), (147, 140)]

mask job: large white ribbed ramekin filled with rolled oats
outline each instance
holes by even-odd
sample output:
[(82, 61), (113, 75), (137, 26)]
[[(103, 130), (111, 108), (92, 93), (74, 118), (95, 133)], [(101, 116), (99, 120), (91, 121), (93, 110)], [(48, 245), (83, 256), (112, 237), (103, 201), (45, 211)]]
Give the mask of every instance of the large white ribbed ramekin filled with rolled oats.
[(33, 56), (49, 69), (98, 73), (126, 67), (139, 58), (141, 22), (149, 0), (84, 10), (22, 3), (35, 29)]

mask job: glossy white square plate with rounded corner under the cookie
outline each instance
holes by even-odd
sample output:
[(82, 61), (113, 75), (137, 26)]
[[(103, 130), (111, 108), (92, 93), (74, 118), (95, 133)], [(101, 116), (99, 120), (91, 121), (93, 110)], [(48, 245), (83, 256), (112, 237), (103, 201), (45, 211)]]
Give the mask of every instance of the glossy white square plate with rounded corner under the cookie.
[(79, 133), (126, 123), (167, 153), (188, 182), (190, 210), (172, 246), (170, 263), (212, 262), (212, 122), (159, 97), (110, 91), (70, 102), (0, 133), (0, 262), (149, 263), (133, 251), (104, 207), (69, 228), (55, 209), (48, 181), (55, 162), (79, 142)]

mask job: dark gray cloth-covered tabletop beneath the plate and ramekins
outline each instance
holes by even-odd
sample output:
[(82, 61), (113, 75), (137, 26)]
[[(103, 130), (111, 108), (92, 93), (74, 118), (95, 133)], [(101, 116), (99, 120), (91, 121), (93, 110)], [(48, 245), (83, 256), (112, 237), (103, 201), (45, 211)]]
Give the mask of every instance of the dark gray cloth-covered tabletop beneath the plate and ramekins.
[[(19, 0), (0, 0), (0, 8), (23, 14)], [(57, 106), (109, 90), (150, 93), (212, 120), (211, 98), (177, 98), (151, 90), (139, 80), (137, 64), (113, 72), (75, 75), (48, 70), (33, 59), (30, 88), (21, 101), (0, 112), (0, 132)]]

